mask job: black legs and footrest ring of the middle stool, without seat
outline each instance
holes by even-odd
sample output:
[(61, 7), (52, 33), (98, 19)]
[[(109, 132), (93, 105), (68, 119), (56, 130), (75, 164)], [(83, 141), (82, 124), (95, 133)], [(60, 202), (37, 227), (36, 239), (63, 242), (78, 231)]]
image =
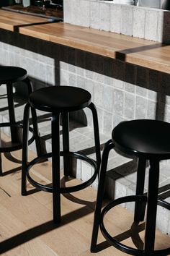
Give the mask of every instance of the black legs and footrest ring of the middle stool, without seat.
[[(61, 193), (69, 193), (76, 192), (80, 189), (84, 189), (88, 187), (94, 180), (97, 178), (99, 174), (99, 166), (101, 162), (100, 155), (100, 142), (99, 142), (99, 124), (97, 117), (97, 109), (94, 106), (94, 103), (90, 103), (87, 106), (91, 109), (93, 121), (94, 121), (94, 141), (95, 141), (95, 150), (96, 150), (96, 158), (97, 161), (92, 160), (86, 155), (81, 155), (79, 153), (70, 152), (69, 151), (69, 116), (68, 112), (58, 112), (55, 110), (52, 113), (52, 121), (51, 121), (51, 133), (52, 133), (52, 152), (41, 155), (40, 157), (35, 158), (29, 164), (27, 163), (27, 148), (28, 148), (28, 127), (29, 127), (29, 111), (30, 111), (31, 103), (27, 103), (24, 108), (24, 132), (23, 132), (23, 150), (22, 150), (22, 195), (27, 195), (27, 184), (26, 180), (40, 190), (45, 192), (53, 193), (53, 222), (60, 223), (61, 222)], [(33, 108), (33, 107), (32, 107)], [(63, 152), (60, 151), (60, 116), (62, 118), (63, 125)], [(63, 155), (63, 169), (64, 175), (69, 176), (71, 174), (71, 158), (79, 158), (91, 164), (94, 168), (94, 174), (91, 176), (89, 180), (86, 182), (73, 186), (73, 187), (61, 187), (60, 186), (60, 156)], [(30, 168), (35, 164), (42, 160), (52, 157), (52, 182), (53, 187), (44, 186), (35, 182), (30, 174)]]

